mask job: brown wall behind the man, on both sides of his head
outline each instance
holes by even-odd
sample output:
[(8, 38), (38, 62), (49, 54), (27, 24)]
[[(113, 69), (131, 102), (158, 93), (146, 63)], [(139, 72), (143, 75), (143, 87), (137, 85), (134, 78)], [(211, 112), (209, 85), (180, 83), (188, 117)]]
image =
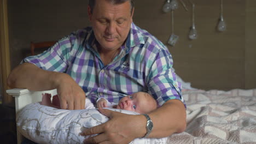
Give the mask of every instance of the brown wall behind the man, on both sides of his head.
[[(227, 31), (216, 31), (220, 1), (194, 0), (196, 40), (188, 39), (191, 5), (183, 0), (174, 11), (178, 43), (168, 46), (176, 72), (193, 87), (232, 89), (256, 87), (254, 0), (223, 0)], [(171, 13), (162, 13), (164, 0), (136, 1), (133, 21), (166, 44), (171, 34)], [(61, 4), (60, 4), (61, 3)], [(29, 53), (30, 41), (57, 40), (90, 25), (88, 1), (8, 1), (11, 67)]]

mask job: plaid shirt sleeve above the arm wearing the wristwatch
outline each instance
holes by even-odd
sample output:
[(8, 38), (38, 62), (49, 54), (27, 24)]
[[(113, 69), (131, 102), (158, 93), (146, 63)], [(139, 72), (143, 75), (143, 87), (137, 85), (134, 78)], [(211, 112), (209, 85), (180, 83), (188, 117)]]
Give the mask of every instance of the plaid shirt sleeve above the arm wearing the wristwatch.
[(171, 99), (181, 100), (185, 105), (181, 83), (177, 81), (176, 74), (171, 69), (173, 64), (171, 54), (167, 50), (160, 49), (154, 60), (147, 77), (149, 93), (160, 106)]

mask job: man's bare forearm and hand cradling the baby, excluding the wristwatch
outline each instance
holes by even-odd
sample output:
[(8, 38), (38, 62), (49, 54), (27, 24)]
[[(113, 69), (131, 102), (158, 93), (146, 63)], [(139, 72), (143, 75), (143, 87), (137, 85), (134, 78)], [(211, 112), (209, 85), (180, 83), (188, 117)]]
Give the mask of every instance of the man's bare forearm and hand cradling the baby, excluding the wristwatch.
[[(142, 115), (126, 115), (106, 109), (99, 109), (110, 120), (96, 127), (86, 129), (82, 135), (99, 134), (86, 139), (84, 143), (129, 143), (137, 137), (146, 135), (147, 120)], [(181, 133), (186, 128), (184, 104), (179, 100), (168, 100), (159, 109), (148, 114), (154, 128), (149, 137), (159, 138)]]

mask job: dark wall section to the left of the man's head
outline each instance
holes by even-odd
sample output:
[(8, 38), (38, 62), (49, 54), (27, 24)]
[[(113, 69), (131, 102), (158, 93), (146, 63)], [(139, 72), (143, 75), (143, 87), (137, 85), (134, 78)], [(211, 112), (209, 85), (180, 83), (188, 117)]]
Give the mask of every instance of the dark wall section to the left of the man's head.
[(87, 1), (8, 1), (11, 68), (30, 54), (30, 42), (58, 40), (89, 25)]

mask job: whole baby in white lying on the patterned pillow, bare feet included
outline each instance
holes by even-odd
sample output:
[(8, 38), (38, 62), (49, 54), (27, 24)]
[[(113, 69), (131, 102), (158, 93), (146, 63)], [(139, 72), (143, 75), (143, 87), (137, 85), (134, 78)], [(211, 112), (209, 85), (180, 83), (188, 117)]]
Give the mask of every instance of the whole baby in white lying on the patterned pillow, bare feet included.
[[(42, 94), (42, 105), (55, 107), (60, 109), (60, 101), (57, 95), (53, 96), (53, 101), (51, 102), (51, 94)], [(118, 105), (115, 103), (109, 103), (106, 99), (100, 98), (97, 100), (97, 107), (110, 107), (114, 109), (135, 111), (138, 113), (149, 113), (158, 107), (156, 100), (152, 95), (146, 92), (137, 92), (131, 95), (127, 95), (119, 100)], [(91, 103), (90, 99), (85, 100), (85, 109), (95, 109), (94, 105)]]

